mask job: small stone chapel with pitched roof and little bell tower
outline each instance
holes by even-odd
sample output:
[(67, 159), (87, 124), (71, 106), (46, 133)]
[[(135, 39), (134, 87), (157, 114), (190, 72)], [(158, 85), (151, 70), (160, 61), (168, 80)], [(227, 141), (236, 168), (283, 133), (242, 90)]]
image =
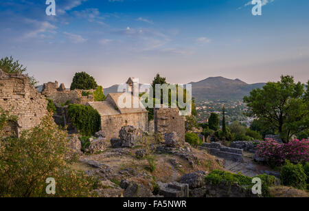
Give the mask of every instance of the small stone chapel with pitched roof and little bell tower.
[[(139, 102), (139, 97), (133, 95), (137, 93), (138, 85), (134, 78), (129, 78), (126, 82), (128, 91), (125, 93), (109, 93), (103, 102), (88, 102), (87, 104), (96, 109), (101, 115), (101, 129), (106, 134), (107, 139), (119, 137), (122, 126), (133, 126), (141, 131), (148, 131), (148, 111), (139, 106), (133, 108), (133, 101)], [(124, 108), (119, 106), (119, 99), (130, 99), (131, 106)], [(123, 101), (125, 103), (125, 100)]]

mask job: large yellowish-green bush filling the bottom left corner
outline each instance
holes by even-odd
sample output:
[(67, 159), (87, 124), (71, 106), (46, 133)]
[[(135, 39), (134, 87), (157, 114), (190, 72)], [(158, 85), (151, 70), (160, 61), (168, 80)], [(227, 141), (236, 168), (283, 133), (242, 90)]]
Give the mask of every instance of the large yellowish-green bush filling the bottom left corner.
[[(93, 196), (93, 179), (71, 170), (65, 160), (68, 144), (67, 133), (58, 129), (51, 114), (19, 138), (1, 142), (1, 197)], [(45, 191), (49, 177), (56, 181), (56, 195)]]

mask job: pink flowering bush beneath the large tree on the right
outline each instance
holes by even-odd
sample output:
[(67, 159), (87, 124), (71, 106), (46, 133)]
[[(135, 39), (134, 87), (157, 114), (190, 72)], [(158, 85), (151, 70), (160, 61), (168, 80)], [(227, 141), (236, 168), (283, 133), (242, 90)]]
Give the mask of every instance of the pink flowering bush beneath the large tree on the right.
[(288, 144), (279, 144), (268, 139), (258, 144), (256, 155), (270, 166), (282, 166), (286, 159), (293, 163), (309, 162), (309, 140), (290, 140)]

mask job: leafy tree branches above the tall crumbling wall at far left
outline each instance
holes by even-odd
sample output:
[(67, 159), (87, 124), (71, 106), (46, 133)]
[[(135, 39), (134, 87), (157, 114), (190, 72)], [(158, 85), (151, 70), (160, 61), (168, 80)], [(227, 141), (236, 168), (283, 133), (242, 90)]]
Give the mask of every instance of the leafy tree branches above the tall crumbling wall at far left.
[(25, 71), (27, 71), (27, 67), (23, 67), (23, 65), (19, 63), (19, 60), (14, 60), (12, 56), (10, 56), (10, 58), (6, 56), (5, 58), (0, 59), (0, 69), (8, 74), (24, 74), (30, 80), (30, 84), (32, 86), (38, 83), (33, 76), (29, 76), (25, 73)]

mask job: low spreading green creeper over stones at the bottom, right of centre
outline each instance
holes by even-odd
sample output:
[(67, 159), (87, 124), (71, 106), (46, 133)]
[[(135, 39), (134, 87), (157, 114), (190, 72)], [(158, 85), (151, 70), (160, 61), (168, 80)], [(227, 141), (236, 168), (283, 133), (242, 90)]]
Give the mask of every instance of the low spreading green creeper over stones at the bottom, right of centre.
[[(275, 185), (275, 177), (269, 175), (257, 175), (255, 177), (259, 177), (262, 180), (262, 196), (270, 197), (269, 187)], [(247, 177), (240, 173), (233, 174), (224, 170), (213, 170), (205, 177), (205, 180), (210, 184), (218, 185), (222, 181), (229, 185), (237, 183), (247, 190), (250, 190), (253, 186), (252, 179), (253, 177)]]

